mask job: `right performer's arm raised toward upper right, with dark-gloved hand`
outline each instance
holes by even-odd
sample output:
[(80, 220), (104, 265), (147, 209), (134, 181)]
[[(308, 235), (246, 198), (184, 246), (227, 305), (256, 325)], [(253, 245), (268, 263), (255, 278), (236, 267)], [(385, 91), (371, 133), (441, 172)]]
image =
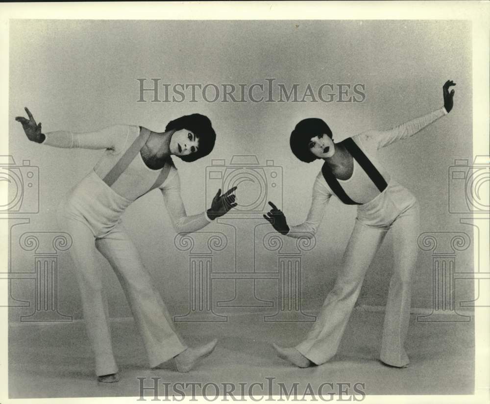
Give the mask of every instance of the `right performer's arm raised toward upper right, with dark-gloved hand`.
[(394, 142), (409, 138), (421, 131), (432, 122), (448, 114), (453, 108), (454, 90), (449, 92), (449, 87), (456, 84), (452, 80), (447, 80), (442, 86), (442, 95), (444, 98), (444, 106), (438, 110), (432, 111), (422, 117), (412, 119), (394, 128), (379, 131), (370, 130), (362, 134), (363, 138), (369, 143), (374, 143), (377, 149), (388, 146)]

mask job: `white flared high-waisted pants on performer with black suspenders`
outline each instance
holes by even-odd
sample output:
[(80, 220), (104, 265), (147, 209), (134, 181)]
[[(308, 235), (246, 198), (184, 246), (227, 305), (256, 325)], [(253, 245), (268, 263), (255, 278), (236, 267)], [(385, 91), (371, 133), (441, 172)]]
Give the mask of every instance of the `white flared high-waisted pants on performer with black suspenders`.
[(306, 339), (296, 346), (312, 362), (321, 364), (336, 354), (366, 271), (388, 231), (393, 235), (393, 271), (380, 359), (397, 367), (409, 363), (403, 345), (408, 332), (411, 285), (417, 261), (419, 207), (415, 196), (394, 181), (376, 198), (358, 206), (354, 230), (334, 288), (327, 295)]

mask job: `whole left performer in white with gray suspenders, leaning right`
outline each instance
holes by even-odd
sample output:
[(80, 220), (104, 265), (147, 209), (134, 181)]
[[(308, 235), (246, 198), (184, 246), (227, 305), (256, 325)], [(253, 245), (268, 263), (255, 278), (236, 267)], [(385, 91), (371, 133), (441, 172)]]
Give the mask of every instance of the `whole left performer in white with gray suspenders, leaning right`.
[(124, 210), (136, 199), (158, 188), (163, 194), (176, 232), (195, 232), (237, 204), (236, 187), (214, 197), (210, 209), (187, 215), (180, 196), (180, 180), (172, 157), (193, 162), (208, 155), (216, 133), (211, 121), (200, 114), (174, 119), (165, 132), (135, 125), (73, 133), (43, 134), (25, 108), (29, 119), (17, 117), (27, 138), (54, 147), (103, 149), (97, 165), (62, 199), (58, 223), (73, 238), (70, 249), (80, 289), (83, 317), (95, 354), (98, 380), (119, 380), (109, 332), (107, 301), (100, 281), (97, 250), (109, 261), (123, 286), (131, 312), (143, 337), (150, 367), (174, 358), (179, 372), (188, 372), (201, 357), (209, 355), (216, 340), (197, 348), (187, 347), (175, 331), (172, 318), (148, 270), (121, 223)]

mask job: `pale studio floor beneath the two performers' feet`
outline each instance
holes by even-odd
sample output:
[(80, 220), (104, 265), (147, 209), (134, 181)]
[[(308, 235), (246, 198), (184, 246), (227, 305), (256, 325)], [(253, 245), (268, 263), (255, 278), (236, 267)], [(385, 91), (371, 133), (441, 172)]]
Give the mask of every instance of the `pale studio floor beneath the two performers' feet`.
[[(378, 360), (382, 312), (356, 309), (352, 313), (338, 354), (312, 368), (295, 368), (275, 355), (270, 342), (293, 346), (311, 323), (264, 322), (260, 313), (232, 314), (227, 322), (176, 323), (188, 345), (218, 338), (211, 356), (186, 374), (172, 361), (149, 369), (147, 357), (131, 319), (111, 324), (118, 383), (99, 383), (83, 322), (13, 324), (9, 330), (9, 397), (139, 397), (139, 380), (160, 377), (162, 382), (294, 382), (303, 392), (307, 383), (364, 383), (367, 395), (473, 394), (474, 322), (418, 322), (412, 315), (406, 348), (411, 364), (405, 369)], [(279, 388), (274, 384), (273, 393)], [(214, 395), (214, 390), (210, 390)], [(238, 391), (238, 387), (237, 387)], [(352, 390), (351, 390), (352, 391)], [(172, 393), (172, 389), (169, 390)], [(163, 395), (163, 389), (160, 389)], [(149, 392), (148, 400), (153, 393)], [(163, 397), (161, 397), (163, 398)]]

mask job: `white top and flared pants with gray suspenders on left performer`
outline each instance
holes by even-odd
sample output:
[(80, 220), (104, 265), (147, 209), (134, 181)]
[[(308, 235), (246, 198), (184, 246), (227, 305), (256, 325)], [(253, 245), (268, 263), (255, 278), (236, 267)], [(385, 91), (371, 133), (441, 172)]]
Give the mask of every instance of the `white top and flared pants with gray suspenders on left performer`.
[(109, 316), (100, 282), (97, 250), (118, 276), (151, 367), (171, 359), (187, 347), (154, 287), (121, 215), (134, 200), (159, 188), (177, 232), (194, 232), (210, 220), (205, 212), (188, 216), (180, 197), (177, 169), (169, 161), (161, 170), (147, 167), (140, 149), (149, 131), (139, 126), (114, 125), (97, 132), (49, 132), (43, 144), (55, 147), (105, 149), (97, 165), (58, 206), (58, 223), (73, 238), (70, 249), (80, 289), (83, 317), (92, 343), (98, 376), (118, 372), (112, 352)]

